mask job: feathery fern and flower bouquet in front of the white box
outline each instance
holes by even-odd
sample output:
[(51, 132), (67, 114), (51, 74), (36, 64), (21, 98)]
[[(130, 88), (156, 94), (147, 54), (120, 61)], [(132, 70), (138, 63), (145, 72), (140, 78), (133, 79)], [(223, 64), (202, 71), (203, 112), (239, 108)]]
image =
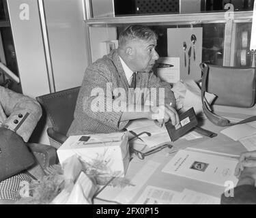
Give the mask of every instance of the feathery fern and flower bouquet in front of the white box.
[[(73, 161), (70, 161), (73, 159)], [(74, 159), (76, 163), (74, 163)], [(52, 204), (53, 200), (66, 189), (70, 183), (70, 178), (67, 178), (66, 175), (70, 175), (74, 173), (78, 168), (79, 174), (81, 172), (85, 173), (86, 176), (96, 185), (97, 189), (100, 186), (103, 188), (106, 185), (113, 187), (126, 187), (128, 185), (132, 185), (127, 178), (119, 178), (119, 172), (111, 172), (111, 170), (107, 167), (107, 161), (103, 156), (99, 156), (96, 159), (92, 159), (90, 162), (84, 161), (79, 156), (70, 157), (65, 164), (61, 165), (53, 165), (47, 168), (46, 176), (43, 176), (38, 181), (33, 181), (29, 185), (29, 197), (21, 198), (16, 204)], [(74, 164), (74, 166), (72, 166)], [(79, 167), (77, 166), (79, 164)], [(71, 169), (72, 172), (68, 172)], [(74, 170), (76, 169), (76, 170)], [(72, 181), (72, 187), (76, 183), (79, 174), (74, 176)], [(69, 190), (70, 191), (70, 190)], [(99, 191), (95, 191), (95, 198)], [(91, 202), (91, 200), (89, 201)]]

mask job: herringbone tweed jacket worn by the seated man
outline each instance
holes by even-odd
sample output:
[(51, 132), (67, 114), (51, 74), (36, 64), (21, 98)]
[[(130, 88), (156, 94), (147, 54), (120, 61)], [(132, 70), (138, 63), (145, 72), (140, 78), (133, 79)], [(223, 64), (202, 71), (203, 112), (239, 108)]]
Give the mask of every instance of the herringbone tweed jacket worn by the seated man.
[[(172, 106), (175, 106), (175, 97), (170, 84), (161, 82), (153, 72), (138, 72), (136, 87), (149, 88), (149, 90), (150, 88), (164, 88), (165, 103), (171, 102)], [(122, 111), (115, 110), (118, 107), (113, 102), (121, 99), (123, 102), (132, 103), (128, 97), (128, 88), (128, 80), (117, 50), (112, 50), (109, 55), (104, 55), (89, 65), (85, 71), (76, 102), (74, 121), (68, 130), (68, 136), (106, 134), (124, 129), (128, 121), (119, 122)], [(148, 97), (149, 95), (146, 99)], [(100, 111), (95, 111), (95, 108)]]

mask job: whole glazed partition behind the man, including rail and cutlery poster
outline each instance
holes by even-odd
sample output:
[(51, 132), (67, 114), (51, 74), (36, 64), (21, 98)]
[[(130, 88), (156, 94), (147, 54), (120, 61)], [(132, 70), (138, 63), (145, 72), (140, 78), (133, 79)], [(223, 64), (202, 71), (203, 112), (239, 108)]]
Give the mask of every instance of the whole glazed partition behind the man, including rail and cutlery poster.
[[(126, 10), (132, 12), (132, 14), (127, 15), (127, 12), (123, 13), (124, 11), (122, 14), (120, 10), (119, 16), (116, 16), (115, 10), (117, 8), (114, 6), (117, 3), (120, 4), (121, 1), (104, 0), (108, 5), (104, 9), (113, 11), (107, 15), (107, 18), (104, 16), (96, 18), (92, 7), (100, 1), (85, 0), (89, 63), (106, 55), (111, 49), (117, 48), (118, 35), (122, 29), (131, 24), (142, 24), (152, 27), (158, 33), (156, 50), (160, 57), (179, 59), (181, 79), (200, 78), (201, 70), (199, 64), (201, 62), (237, 67), (250, 67), (252, 65), (253, 54), (249, 48), (254, 1), (195, 0), (200, 3), (200, 12), (195, 13), (196, 10), (194, 10), (186, 14), (188, 10), (182, 11), (181, 7), (183, 9), (186, 8), (184, 3), (193, 2), (193, 0), (181, 0), (179, 1), (178, 13), (165, 13), (163, 10), (162, 14), (155, 14), (154, 12), (156, 11), (152, 8), (149, 10), (150, 13), (145, 15), (139, 14), (139, 12), (134, 14), (134, 10), (132, 12), (129, 9), (131, 5), (134, 8), (134, 5), (138, 5), (137, 3), (140, 2), (132, 0), (129, 1), (132, 4), (126, 7)], [(152, 2), (141, 1), (147, 2), (147, 4)], [(122, 7), (126, 5), (126, 2), (128, 0), (122, 0)], [(162, 0), (159, 2), (167, 1)], [(158, 1), (154, 1), (154, 5), (156, 3)], [(225, 7), (226, 3), (229, 3), (229, 7), (227, 5)], [(233, 4), (231, 5), (230, 3)], [(197, 4), (195, 3), (195, 5)], [(94, 17), (90, 13), (94, 14)], [(194, 42), (193, 35), (196, 36)], [(189, 61), (190, 67), (188, 67)]]

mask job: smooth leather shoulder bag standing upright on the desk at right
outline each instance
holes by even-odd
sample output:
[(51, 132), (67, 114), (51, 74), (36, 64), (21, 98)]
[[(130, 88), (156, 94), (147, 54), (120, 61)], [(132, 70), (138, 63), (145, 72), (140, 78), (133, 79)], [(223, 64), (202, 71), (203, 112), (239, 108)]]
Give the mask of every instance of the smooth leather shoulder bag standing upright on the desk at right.
[(200, 65), (203, 74), (208, 71), (205, 91), (217, 96), (214, 104), (250, 108), (255, 104), (255, 67), (222, 67)]

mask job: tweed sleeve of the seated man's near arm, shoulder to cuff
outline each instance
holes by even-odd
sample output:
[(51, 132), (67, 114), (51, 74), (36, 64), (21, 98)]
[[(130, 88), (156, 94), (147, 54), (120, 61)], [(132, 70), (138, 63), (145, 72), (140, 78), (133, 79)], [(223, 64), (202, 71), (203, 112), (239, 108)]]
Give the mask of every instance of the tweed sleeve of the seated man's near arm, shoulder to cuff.
[[(115, 108), (113, 99), (112, 74), (106, 65), (91, 65), (85, 72), (79, 95), (81, 113), (87, 114), (104, 125), (122, 130), (128, 121), (120, 122), (123, 110)], [(126, 95), (126, 93), (124, 93)]]

